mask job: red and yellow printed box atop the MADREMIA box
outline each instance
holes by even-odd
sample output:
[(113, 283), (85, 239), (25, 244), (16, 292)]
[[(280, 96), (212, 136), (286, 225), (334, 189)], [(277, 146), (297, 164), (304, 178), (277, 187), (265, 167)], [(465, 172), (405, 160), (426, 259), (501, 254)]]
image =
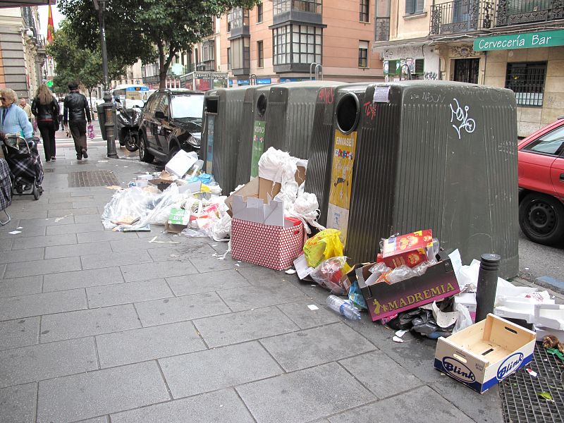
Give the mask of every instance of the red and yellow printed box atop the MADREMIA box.
[(391, 269), (402, 264), (415, 267), (427, 260), (427, 248), (432, 246), (433, 232), (430, 229), (392, 236), (384, 240), (382, 260)]

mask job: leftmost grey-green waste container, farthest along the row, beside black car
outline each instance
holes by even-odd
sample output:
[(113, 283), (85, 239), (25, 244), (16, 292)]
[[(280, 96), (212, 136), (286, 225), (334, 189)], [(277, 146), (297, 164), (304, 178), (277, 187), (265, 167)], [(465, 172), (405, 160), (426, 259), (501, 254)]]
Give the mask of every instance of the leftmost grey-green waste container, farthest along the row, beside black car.
[(214, 175), (225, 195), (236, 186), (243, 100), (248, 88), (209, 90), (204, 97), (200, 159), (204, 160), (204, 170)]

